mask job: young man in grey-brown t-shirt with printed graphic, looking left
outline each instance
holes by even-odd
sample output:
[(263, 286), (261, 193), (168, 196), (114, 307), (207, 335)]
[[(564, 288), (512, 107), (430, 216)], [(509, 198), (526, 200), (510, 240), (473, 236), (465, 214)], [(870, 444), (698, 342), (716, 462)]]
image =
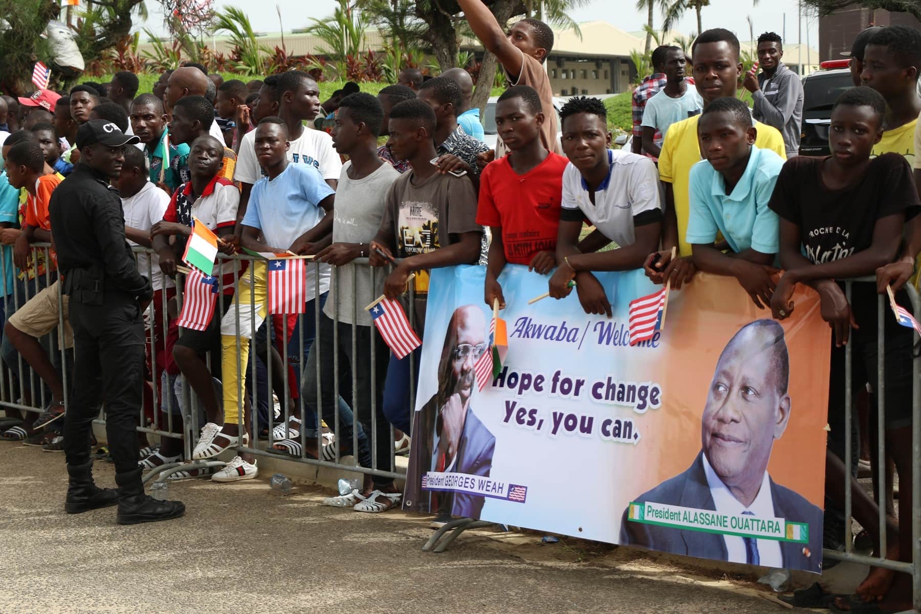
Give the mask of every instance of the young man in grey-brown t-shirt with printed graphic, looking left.
[(402, 259), (384, 281), (388, 298), (399, 298), (410, 273), (415, 273), (414, 328), (420, 337), (425, 329), (428, 270), (475, 263), (483, 234), (476, 223), (472, 182), (442, 174), (431, 163), (437, 157), (435, 124), (435, 111), (422, 100), (404, 100), (391, 110), (387, 145), (395, 158), (408, 161), (412, 169), (395, 180), (387, 193), (369, 256), (373, 266)]

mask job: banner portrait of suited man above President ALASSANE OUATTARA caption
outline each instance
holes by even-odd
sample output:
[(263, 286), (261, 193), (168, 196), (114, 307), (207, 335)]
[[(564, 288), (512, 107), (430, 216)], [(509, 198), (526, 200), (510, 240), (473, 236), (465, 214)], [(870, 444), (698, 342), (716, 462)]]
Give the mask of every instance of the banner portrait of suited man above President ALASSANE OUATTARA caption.
[(675, 554), (820, 572), (822, 509), (767, 472), (792, 401), (784, 330), (773, 319), (742, 327), (719, 355), (701, 417), (701, 451), (691, 467), (633, 501), (720, 514), (808, 523), (809, 543), (756, 539), (621, 519), (620, 543)]

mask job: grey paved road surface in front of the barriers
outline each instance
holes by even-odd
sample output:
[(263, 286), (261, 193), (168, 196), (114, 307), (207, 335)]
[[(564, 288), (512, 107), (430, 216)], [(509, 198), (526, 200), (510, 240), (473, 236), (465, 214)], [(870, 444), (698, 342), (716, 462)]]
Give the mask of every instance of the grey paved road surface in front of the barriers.
[[(674, 567), (612, 566), (610, 548), (579, 540), (471, 534), (426, 553), (419, 516), (324, 507), (309, 488), (280, 497), (267, 481), (173, 483), (187, 516), (119, 527), (113, 508), (63, 513), (63, 455), (0, 442), (0, 467), (2, 614), (786, 611)], [(112, 484), (111, 465), (97, 473)]]

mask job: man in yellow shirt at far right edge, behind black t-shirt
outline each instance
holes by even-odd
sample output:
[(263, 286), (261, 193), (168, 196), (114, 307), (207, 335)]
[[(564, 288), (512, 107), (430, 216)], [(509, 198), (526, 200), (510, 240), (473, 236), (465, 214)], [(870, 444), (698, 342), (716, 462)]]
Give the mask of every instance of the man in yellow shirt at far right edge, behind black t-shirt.
[[(921, 170), (915, 156), (918, 114), (921, 113), (921, 98), (918, 98), (917, 80), (921, 69), (921, 32), (906, 26), (880, 28), (867, 42), (864, 52), (863, 85), (872, 87), (886, 98), (886, 117), (882, 121), (882, 138), (873, 145), (870, 156), (893, 152), (905, 156), (915, 168), (915, 185), (921, 192)], [(909, 279), (917, 287), (915, 259), (921, 251), (921, 216), (905, 224), (903, 249), (892, 264), (877, 271), (879, 287), (883, 292), (886, 285), (899, 290)]]

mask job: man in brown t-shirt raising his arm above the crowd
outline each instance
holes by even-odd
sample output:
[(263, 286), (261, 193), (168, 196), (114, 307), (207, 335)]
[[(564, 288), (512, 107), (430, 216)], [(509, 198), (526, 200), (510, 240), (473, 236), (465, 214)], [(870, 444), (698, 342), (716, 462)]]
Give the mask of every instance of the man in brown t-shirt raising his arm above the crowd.
[[(546, 118), (541, 127), (543, 146), (554, 154), (563, 154), (556, 140), (556, 113), (554, 89), (543, 63), (554, 48), (554, 30), (538, 19), (521, 19), (508, 30), (502, 30), (495, 16), (482, 0), (458, 0), (473, 33), (483, 42), (487, 51), (495, 53), (513, 86), (530, 86), (541, 97), (541, 107)], [(495, 157), (507, 154), (502, 139), (495, 144)]]

